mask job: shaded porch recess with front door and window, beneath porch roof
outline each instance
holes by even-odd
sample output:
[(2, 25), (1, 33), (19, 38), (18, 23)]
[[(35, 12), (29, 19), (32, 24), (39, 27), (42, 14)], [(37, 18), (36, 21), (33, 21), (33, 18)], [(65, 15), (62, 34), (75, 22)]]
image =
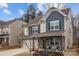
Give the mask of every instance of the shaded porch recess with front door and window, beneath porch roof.
[(39, 41), (43, 49), (62, 50), (62, 37), (47, 37)]

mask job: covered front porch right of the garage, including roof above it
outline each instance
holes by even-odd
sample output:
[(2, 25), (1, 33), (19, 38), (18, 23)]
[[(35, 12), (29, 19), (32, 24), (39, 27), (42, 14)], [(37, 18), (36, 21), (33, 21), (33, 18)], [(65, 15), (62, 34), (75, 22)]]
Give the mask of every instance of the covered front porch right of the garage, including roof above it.
[(47, 50), (64, 50), (65, 36), (63, 31), (45, 32), (38, 35), (38, 47)]

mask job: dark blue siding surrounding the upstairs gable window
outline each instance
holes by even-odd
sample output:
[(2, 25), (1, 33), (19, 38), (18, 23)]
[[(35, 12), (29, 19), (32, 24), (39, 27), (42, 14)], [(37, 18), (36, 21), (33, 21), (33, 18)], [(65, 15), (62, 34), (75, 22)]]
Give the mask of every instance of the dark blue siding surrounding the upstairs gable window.
[(52, 12), (46, 19), (46, 32), (50, 31), (50, 21), (55, 21), (55, 20), (60, 21), (60, 30), (59, 31), (64, 30), (64, 16), (62, 14), (60, 14), (59, 12), (55, 11), (55, 12)]

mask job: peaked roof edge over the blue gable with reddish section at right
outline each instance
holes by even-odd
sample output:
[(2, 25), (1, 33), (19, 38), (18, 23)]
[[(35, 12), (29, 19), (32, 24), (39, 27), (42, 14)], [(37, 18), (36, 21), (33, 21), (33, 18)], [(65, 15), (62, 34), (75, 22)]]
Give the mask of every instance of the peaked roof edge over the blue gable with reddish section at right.
[(70, 12), (70, 8), (64, 8), (64, 9), (60, 10), (60, 9), (55, 8), (55, 7), (52, 7), (52, 8), (47, 10), (46, 14), (42, 17), (41, 22), (44, 21), (44, 19), (46, 19), (49, 16), (49, 14), (51, 12), (54, 12), (54, 11), (58, 11), (63, 16), (67, 16), (69, 14), (69, 12)]

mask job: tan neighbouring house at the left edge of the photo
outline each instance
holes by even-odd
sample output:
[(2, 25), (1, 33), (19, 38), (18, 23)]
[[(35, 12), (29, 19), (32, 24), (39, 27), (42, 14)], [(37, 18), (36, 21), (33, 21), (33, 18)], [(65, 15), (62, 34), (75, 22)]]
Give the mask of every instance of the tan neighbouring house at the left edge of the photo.
[(23, 20), (0, 22), (0, 46), (19, 46), (25, 24)]

